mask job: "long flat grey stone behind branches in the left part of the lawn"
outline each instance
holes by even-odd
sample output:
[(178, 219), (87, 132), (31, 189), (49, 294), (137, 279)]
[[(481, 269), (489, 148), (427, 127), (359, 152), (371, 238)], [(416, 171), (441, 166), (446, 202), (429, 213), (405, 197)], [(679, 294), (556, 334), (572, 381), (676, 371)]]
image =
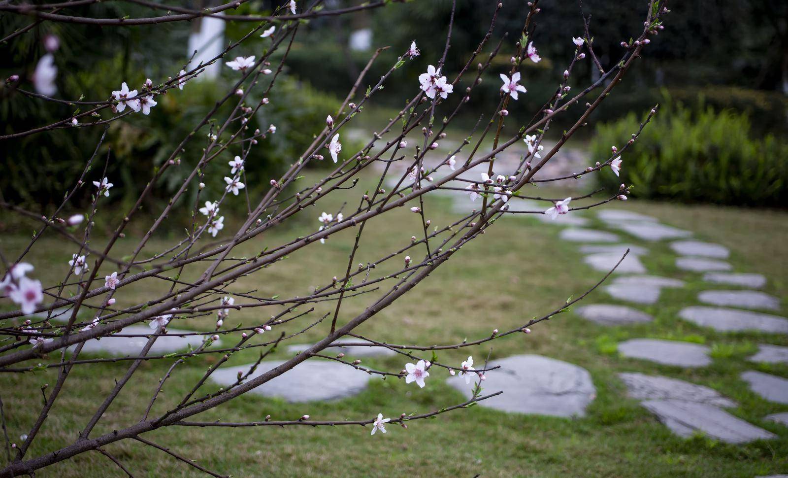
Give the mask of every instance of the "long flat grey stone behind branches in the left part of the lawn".
[[(153, 343), (151, 351), (148, 352), (149, 356), (185, 350), (190, 345), (192, 349), (196, 349), (203, 343), (203, 338), (205, 337), (204, 335), (178, 336), (178, 334), (191, 334), (195, 330), (180, 330), (167, 327), (166, 331), (166, 336), (157, 338), (156, 342)], [(154, 334), (154, 330), (144, 325), (130, 325), (123, 327), (123, 330), (117, 334)], [(100, 340), (91, 338), (91, 340), (85, 341), (82, 353), (109, 353), (111, 355), (136, 357), (148, 341), (147, 337), (118, 337), (117, 334), (102, 337)], [(220, 343), (221, 341), (213, 342), (210, 346), (213, 347)], [(74, 348), (76, 348), (76, 345), (69, 347), (69, 349)]]

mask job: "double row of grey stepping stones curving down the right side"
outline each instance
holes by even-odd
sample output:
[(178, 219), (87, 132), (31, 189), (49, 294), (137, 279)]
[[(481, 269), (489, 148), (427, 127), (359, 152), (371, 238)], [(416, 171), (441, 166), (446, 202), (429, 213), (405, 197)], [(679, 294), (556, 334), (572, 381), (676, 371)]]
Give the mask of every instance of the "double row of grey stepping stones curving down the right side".
[[(574, 215), (582, 220), (548, 223), (564, 226), (559, 237), (563, 241), (578, 243), (580, 252), (585, 256), (584, 262), (593, 269), (610, 271), (626, 249), (630, 249), (630, 254), (615, 271), (616, 275), (601, 287), (604, 293), (596, 297), (604, 298), (607, 294), (616, 301), (630, 303), (634, 307), (604, 302), (583, 304), (574, 309), (583, 319), (605, 327), (651, 323), (652, 316), (638, 310), (637, 306), (660, 304), (663, 289), (686, 286), (684, 281), (676, 278), (647, 274), (648, 268), (642, 259), (649, 256), (649, 245), (656, 241), (669, 241), (669, 247), (677, 254), (675, 266), (678, 270), (703, 274), (702, 279), (709, 286), (741, 288), (702, 291), (697, 301), (708, 306), (689, 305), (682, 308), (678, 313), (681, 319), (725, 332), (756, 330), (788, 334), (788, 319), (762, 312), (780, 310), (777, 297), (754, 290), (766, 284), (764, 276), (733, 272), (733, 266), (727, 262), (730, 251), (723, 245), (697, 241), (688, 230), (661, 224), (656, 218), (633, 211), (601, 210), (597, 213), (597, 219), (602, 223), (602, 229), (594, 228), (593, 222), (582, 213)], [(582, 227), (578, 227), (578, 224), (582, 224)], [(645, 245), (624, 243), (624, 236), (627, 240), (632, 237), (645, 241)], [(708, 345), (658, 338), (632, 338), (618, 345), (620, 357), (678, 368), (708, 367), (712, 364), (710, 351)], [(760, 344), (758, 353), (749, 357), (749, 360), (788, 363), (788, 347)], [(489, 374), (490, 377), (493, 375), (492, 372)], [(656, 375), (623, 373), (619, 377), (629, 390), (630, 397), (641, 401), (645, 409), (654, 413), (677, 435), (690, 436), (701, 431), (727, 443), (747, 443), (776, 436), (725, 411), (723, 408), (735, 407), (737, 404), (711, 388)], [(755, 371), (743, 373), (741, 379), (749, 384), (753, 393), (762, 398), (775, 403), (788, 403), (788, 379)], [(500, 387), (505, 388), (507, 385), (509, 383), (504, 380)], [(788, 420), (788, 413), (770, 417), (768, 420), (780, 422)]]

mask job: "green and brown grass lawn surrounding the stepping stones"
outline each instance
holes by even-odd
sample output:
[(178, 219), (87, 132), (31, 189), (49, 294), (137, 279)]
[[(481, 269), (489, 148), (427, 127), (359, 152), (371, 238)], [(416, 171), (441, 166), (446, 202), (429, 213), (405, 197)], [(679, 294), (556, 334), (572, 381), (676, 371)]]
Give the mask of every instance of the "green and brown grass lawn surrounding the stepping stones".
[[(312, 176), (307, 177), (310, 180)], [(305, 181), (307, 181), (305, 180)], [(361, 194), (345, 192), (348, 204)], [(544, 190), (542, 190), (544, 192)], [(563, 196), (561, 196), (563, 197)], [(346, 198), (346, 199), (347, 199)], [(336, 198), (340, 207), (342, 198)], [(613, 207), (622, 207), (613, 204)], [(740, 210), (732, 207), (686, 206), (629, 201), (628, 209), (645, 212), (672, 226), (696, 232), (701, 240), (718, 242), (731, 249), (734, 271), (758, 272), (768, 277), (765, 291), (777, 297), (788, 296), (788, 214), (785, 212)], [(325, 206), (325, 211), (332, 210)], [(435, 198), (426, 203), (428, 218), (442, 226), (459, 215), (452, 213), (449, 200)], [(273, 230), (269, 235), (249, 241), (237, 255), (254, 254), (268, 245), (277, 245), (319, 226), (322, 210), (308, 209), (299, 215), (291, 230)], [(388, 216), (388, 215), (387, 215)], [(588, 214), (589, 217), (593, 215)], [(225, 228), (232, 231), (232, 224)], [(418, 236), (418, 215), (402, 211), (367, 226), (362, 248), (355, 262), (377, 260), (388, 251)], [(577, 296), (597, 282), (602, 274), (582, 262), (578, 245), (558, 240), (559, 227), (548, 226), (533, 218), (504, 218), (479, 241), (463, 248), (454, 260), (440, 267), (410, 294), (359, 329), (372, 338), (395, 343), (420, 345), (446, 344), (482, 338), (492, 329), (518, 327), (533, 316), (541, 316), (569, 297)], [(622, 233), (622, 235), (626, 235)], [(136, 244), (129, 234), (119, 245), (124, 252)], [(233, 290), (258, 289), (261, 295), (281, 297), (303, 295), (334, 275), (344, 273), (355, 230), (332, 237), (325, 245), (313, 244), (303, 252), (269, 267), (266, 271), (241, 279)], [(163, 246), (173, 237), (158, 237)], [(643, 244), (634, 238), (632, 244)], [(24, 246), (25, 237), (3, 233), (0, 248), (13, 257)], [(100, 240), (95, 240), (95, 245)], [(169, 446), (180, 454), (199, 460), (209, 469), (233, 476), (741, 476), (788, 472), (788, 428), (764, 420), (769, 413), (788, 411), (788, 405), (765, 401), (749, 391), (738, 378), (746, 370), (760, 370), (788, 377), (788, 366), (753, 364), (745, 358), (754, 353), (757, 343), (788, 345), (788, 338), (776, 334), (722, 334), (696, 327), (678, 319), (680, 308), (697, 304), (697, 292), (719, 288), (701, 282), (702, 274), (678, 271), (675, 254), (667, 244), (644, 244), (652, 254), (642, 258), (650, 274), (669, 275), (686, 280), (685, 289), (664, 289), (660, 302), (642, 310), (655, 316), (653, 323), (622, 327), (602, 327), (567, 312), (537, 324), (530, 335), (513, 335), (471, 349), (438, 353), (442, 362), (459, 364), (467, 355), (477, 362), (490, 353), (493, 359), (519, 353), (537, 353), (566, 360), (587, 368), (597, 387), (597, 397), (585, 417), (577, 419), (507, 414), (481, 406), (440, 415), (434, 420), (418, 420), (407, 430), (389, 427), (386, 435), (370, 437), (370, 428), (168, 428), (144, 435)], [(72, 245), (57, 237), (39, 242), (28, 260), (35, 265), (35, 278), (44, 284), (57, 282), (65, 274)], [(153, 248), (151, 248), (153, 250)], [(121, 256), (121, 253), (117, 254)], [(412, 254), (411, 254), (412, 256)], [(397, 259), (399, 267), (401, 260)], [(392, 266), (393, 267), (393, 266)], [(380, 270), (392, 269), (386, 265)], [(106, 274), (109, 274), (107, 271)], [(198, 274), (198, 271), (187, 271)], [(101, 275), (105, 275), (102, 271)], [(165, 282), (147, 287), (121, 289), (119, 301), (132, 304), (155, 297)], [(374, 293), (345, 301), (340, 313), (344, 323), (363, 310)], [(604, 292), (585, 300), (616, 303)], [(7, 304), (3, 304), (6, 306)], [(333, 311), (334, 303), (315, 304), (307, 318), (281, 327), (286, 332), (303, 328), (307, 321)], [(256, 317), (278, 312), (262, 308), (231, 312), (226, 325), (251, 323)], [(778, 315), (788, 316), (783, 302)], [(182, 322), (182, 321), (181, 321)], [(177, 328), (212, 330), (213, 318), (173, 323)], [(329, 327), (321, 323), (302, 338), (290, 343), (314, 341)], [(280, 330), (275, 329), (274, 333)], [(615, 344), (627, 338), (674, 338), (712, 346), (713, 364), (701, 369), (682, 369), (619, 357)], [(273, 354), (283, 359), (281, 347)], [(244, 350), (230, 364), (246, 364), (257, 358), (258, 350)], [(429, 354), (424, 354), (429, 358)], [(52, 353), (42, 360), (58, 360)], [(174, 360), (174, 359), (170, 359)], [(99, 422), (93, 435), (136, 423), (144, 413), (158, 379), (165, 374), (170, 360), (145, 362), (136, 379), (125, 387)], [(162, 413), (180, 401), (193, 383), (216, 360), (210, 355), (191, 358), (176, 369), (164, 394), (154, 407)], [(311, 359), (319, 360), (319, 359)], [(61, 399), (50, 412), (43, 431), (28, 453), (37, 456), (65, 446), (87, 423), (114, 380), (128, 368), (128, 362), (91, 364), (76, 367), (65, 384)], [(404, 360), (399, 357), (367, 359), (364, 364), (398, 372)], [(619, 372), (644, 372), (667, 375), (712, 387), (739, 406), (727, 409), (735, 416), (772, 431), (778, 439), (733, 446), (702, 436), (681, 439), (672, 435), (638, 402), (626, 398)], [(494, 372), (490, 372), (494, 373)], [(199, 416), (197, 420), (292, 420), (304, 413), (314, 420), (356, 420), (377, 413), (424, 413), (463, 401), (445, 383), (443, 372), (435, 371), (424, 389), (404, 380), (374, 379), (355, 398), (329, 403), (288, 404), (284, 401), (247, 394)], [(0, 394), (5, 405), (9, 435), (13, 441), (27, 433), (41, 406), (38, 388), (54, 384), (54, 369), (24, 375), (0, 374)], [(212, 384), (205, 391), (216, 390)], [(485, 390), (486, 393), (496, 390)], [(187, 465), (167, 455), (127, 441), (106, 448), (135, 476), (201, 476)], [(2, 460), (5, 454), (2, 453)], [(106, 457), (88, 452), (69, 461), (40, 470), (36, 476), (124, 476)]]

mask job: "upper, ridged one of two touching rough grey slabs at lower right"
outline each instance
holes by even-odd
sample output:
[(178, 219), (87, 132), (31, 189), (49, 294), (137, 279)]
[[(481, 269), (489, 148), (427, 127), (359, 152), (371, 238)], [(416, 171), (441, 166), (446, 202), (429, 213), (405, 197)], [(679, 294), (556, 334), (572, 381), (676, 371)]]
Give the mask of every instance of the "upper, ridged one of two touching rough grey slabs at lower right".
[(684, 380), (635, 372), (619, 373), (619, 378), (626, 385), (627, 395), (639, 400), (691, 401), (716, 407), (737, 405), (735, 401), (723, 397), (713, 388)]

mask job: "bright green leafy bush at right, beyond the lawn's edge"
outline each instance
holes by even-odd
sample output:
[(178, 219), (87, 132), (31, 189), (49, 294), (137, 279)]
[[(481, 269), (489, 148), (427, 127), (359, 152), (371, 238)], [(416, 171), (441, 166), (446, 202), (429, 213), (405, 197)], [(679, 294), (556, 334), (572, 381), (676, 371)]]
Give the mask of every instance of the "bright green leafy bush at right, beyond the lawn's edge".
[[(630, 113), (600, 125), (592, 161), (606, 161), (641, 119)], [(634, 185), (632, 195), (683, 202), (785, 207), (788, 204), (788, 144), (775, 136), (755, 139), (746, 114), (716, 112), (700, 103), (673, 103), (660, 111), (622, 155), (621, 177), (597, 175), (609, 189)]]

